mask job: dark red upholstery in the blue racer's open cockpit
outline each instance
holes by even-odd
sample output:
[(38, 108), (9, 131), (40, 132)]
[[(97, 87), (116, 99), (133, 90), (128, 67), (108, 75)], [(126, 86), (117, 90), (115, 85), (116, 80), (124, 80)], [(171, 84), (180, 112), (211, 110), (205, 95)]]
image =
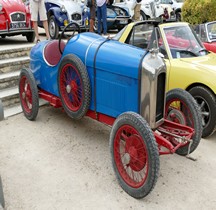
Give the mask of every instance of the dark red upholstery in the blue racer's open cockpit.
[[(65, 48), (65, 42), (61, 41), (61, 51), (63, 52)], [(61, 53), (59, 51), (59, 40), (53, 40), (48, 42), (44, 49), (44, 57), (46, 62), (51, 65), (55, 66), (61, 59)]]

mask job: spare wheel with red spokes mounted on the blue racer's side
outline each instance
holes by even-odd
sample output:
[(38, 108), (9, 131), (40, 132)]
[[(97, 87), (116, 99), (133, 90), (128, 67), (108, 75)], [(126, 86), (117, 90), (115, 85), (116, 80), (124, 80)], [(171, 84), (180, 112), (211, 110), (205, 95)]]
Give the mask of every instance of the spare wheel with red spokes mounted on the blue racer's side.
[(76, 55), (67, 55), (61, 61), (58, 89), (65, 112), (73, 119), (82, 118), (90, 105), (90, 80), (85, 65)]

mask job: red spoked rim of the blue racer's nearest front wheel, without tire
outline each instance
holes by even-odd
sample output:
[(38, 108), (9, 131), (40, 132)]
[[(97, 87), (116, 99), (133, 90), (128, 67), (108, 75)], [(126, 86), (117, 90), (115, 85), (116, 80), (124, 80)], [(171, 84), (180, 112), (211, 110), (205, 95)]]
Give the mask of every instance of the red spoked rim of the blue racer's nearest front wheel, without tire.
[(131, 187), (142, 186), (148, 175), (148, 152), (138, 131), (130, 125), (120, 127), (114, 139), (114, 160), (122, 179)]

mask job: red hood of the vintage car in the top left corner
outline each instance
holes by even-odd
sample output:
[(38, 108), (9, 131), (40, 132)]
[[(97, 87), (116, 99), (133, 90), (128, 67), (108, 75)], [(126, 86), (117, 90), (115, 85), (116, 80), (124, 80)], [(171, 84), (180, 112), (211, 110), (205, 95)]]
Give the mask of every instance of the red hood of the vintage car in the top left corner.
[(2, 4), (5, 11), (9, 14), (16, 11), (25, 13), (26, 11), (25, 5), (21, 0), (10, 0), (10, 1), (0, 0), (0, 4)]

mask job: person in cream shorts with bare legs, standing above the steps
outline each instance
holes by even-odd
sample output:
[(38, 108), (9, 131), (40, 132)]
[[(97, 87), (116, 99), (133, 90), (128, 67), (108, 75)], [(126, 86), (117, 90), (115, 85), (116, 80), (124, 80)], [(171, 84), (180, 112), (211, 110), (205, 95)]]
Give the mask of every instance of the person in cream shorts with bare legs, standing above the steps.
[(38, 14), (40, 16), (40, 20), (43, 22), (43, 27), (45, 29), (46, 37), (47, 39), (50, 39), (44, 0), (30, 0), (30, 13), (31, 13), (31, 21), (33, 22), (33, 28), (36, 36), (36, 43), (40, 42), (40, 37), (38, 33), (38, 23), (37, 23)]

